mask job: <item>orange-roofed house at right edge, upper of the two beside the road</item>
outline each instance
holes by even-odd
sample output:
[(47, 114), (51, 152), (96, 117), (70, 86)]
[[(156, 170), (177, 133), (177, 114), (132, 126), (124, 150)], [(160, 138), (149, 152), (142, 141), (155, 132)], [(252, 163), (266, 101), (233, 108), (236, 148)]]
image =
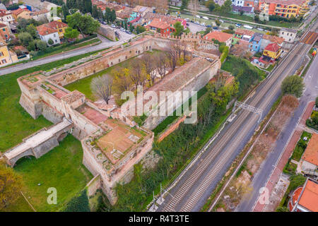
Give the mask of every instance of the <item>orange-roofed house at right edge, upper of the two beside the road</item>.
[(318, 133), (312, 133), (312, 138), (300, 159), (299, 168), (304, 174), (318, 177)]

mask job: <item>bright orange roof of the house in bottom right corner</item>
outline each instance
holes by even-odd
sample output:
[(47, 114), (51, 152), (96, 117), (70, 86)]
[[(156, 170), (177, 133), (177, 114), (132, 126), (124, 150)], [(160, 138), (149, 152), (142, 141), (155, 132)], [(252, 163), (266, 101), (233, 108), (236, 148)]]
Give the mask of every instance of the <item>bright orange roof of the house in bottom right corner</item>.
[(305, 189), (300, 196), (299, 204), (312, 212), (318, 212), (318, 184), (310, 179), (307, 180)]

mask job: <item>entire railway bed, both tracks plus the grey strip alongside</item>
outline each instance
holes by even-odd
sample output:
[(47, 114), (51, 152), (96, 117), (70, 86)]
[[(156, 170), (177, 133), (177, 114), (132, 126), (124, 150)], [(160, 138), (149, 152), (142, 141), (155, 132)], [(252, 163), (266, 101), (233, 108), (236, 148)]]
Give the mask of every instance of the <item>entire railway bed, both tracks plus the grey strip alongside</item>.
[[(309, 49), (307, 44), (296, 44), (271, 77), (247, 100), (247, 104), (263, 110), (263, 118), (280, 95), (283, 78), (295, 73)], [(256, 114), (244, 110), (226, 124), (172, 184), (158, 211), (199, 211), (254, 133), (257, 119)]]

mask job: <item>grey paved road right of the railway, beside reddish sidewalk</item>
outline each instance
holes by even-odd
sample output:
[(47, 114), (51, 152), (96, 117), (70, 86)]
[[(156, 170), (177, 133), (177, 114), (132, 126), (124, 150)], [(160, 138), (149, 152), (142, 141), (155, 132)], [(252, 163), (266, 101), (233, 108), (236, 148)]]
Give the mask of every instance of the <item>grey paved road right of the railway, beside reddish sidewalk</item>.
[(266, 185), (266, 182), (269, 180), (271, 172), (273, 171), (278, 158), (281, 156), (281, 153), (283, 153), (286, 143), (288, 143), (288, 140), (291, 136), (291, 131), (293, 131), (298, 125), (298, 120), (302, 116), (302, 112), (307, 106), (307, 102), (314, 100), (318, 96), (317, 71), (318, 57), (315, 57), (304, 79), (306, 89), (302, 97), (300, 97), (300, 105), (298, 106), (298, 109), (295, 110), (293, 117), (290, 119), (290, 121), (288, 121), (288, 124), (285, 126), (280, 136), (278, 137), (278, 140), (276, 141), (276, 147), (263, 162), (261, 168), (259, 169), (259, 172), (254, 175), (254, 179), (252, 181), (252, 194), (249, 194), (249, 196), (245, 197), (244, 201), (242, 201), (240, 205), (237, 206), (235, 211), (249, 212), (253, 210), (259, 198), (259, 189), (261, 189), (261, 187), (264, 187)]

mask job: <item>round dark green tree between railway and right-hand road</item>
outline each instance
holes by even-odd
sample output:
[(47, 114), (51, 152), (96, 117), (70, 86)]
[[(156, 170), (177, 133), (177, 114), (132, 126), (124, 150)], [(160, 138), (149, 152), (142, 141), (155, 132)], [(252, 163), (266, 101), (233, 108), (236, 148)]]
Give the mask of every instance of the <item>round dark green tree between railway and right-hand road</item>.
[(302, 91), (305, 88), (305, 84), (300, 76), (288, 76), (281, 83), (281, 90), (283, 95), (290, 94), (295, 95), (295, 97), (300, 97)]

